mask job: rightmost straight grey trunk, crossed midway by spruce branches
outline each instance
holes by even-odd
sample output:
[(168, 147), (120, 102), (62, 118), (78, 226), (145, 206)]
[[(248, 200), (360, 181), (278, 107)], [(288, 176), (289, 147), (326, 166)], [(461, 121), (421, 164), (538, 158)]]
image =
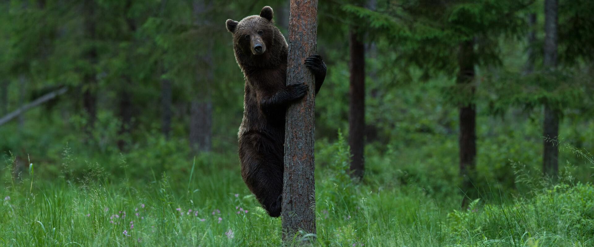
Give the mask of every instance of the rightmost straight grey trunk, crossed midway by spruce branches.
[[(557, 0), (545, 0), (545, 57), (544, 67), (548, 70), (557, 68)], [(558, 140), (559, 112), (545, 104), (544, 137)], [(556, 177), (558, 168), (559, 150), (557, 143), (551, 140), (544, 141), (542, 171), (546, 176)]]

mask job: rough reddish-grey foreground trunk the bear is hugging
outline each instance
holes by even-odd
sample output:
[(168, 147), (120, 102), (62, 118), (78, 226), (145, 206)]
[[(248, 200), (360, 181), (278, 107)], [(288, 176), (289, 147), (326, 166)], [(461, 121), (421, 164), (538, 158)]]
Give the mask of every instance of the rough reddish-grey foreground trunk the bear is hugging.
[(304, 99), (289, 105), (285, 122), (285, 172), (283, 175), (283, 243), (315, 232), (314, 183), (314, 76), (304, 65), (316, 53), (317, 0), (291, 0), (287, 85), (305, 83)]

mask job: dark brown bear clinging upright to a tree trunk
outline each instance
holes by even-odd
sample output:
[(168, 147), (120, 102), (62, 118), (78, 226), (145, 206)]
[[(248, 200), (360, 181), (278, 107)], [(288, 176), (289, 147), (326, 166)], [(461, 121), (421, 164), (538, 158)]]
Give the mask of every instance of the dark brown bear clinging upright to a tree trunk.
[[(237, 22), (227, 20), (233, 34), (235, 60), (244, 72), (244, 119), (239, 126), (241, 177), (272, 217), (279, 217), (283, 191), (285, 112), (305, 96), (305, 84), (286, 85), (289, 47), (272, 20), (272, 8), (262, 8)], [(326, 78), (326, 65), (318, 55), (305, 59), (314, 75), (315, 93)]]

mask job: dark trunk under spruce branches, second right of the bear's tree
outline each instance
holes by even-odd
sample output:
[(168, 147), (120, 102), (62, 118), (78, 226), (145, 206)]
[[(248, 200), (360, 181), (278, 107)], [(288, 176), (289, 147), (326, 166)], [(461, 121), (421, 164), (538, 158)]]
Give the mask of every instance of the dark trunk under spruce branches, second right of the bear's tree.
[(474, 42), (464, 41), (460, 44), (458, 54), (459, 72), (456, 83), (460, 87), (465, 101), (460, 105), (460, 175), (463, 179), (462, 190), (465, 193), (462, 207), (467, 204), (467, 191), (472, 188), (472, 179), (476, 170), (476, 106), (471, 101), (475, 93)]

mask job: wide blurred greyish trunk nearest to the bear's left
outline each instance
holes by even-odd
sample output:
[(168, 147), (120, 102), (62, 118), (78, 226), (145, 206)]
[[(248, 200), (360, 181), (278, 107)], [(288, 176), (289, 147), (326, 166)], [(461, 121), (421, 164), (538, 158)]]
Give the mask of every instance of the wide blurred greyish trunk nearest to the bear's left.
[[(210, 25), (204, 15), (212, 8), (211, 1), (194, 1), (193, 10), (196, 18), (195, 23), (201, 26)], [(213, 125), (213, 104), (211, 100), (211, 82), (214, 79), (212, 68), (213, 41), (206, 41), (206, 54), (196, 57), (198, 68), (196, 68), (197, 92), (190, 105), (190, 130), (189, 144), (192, 152), (208, 152), (211, 149), (212, 125)]]

